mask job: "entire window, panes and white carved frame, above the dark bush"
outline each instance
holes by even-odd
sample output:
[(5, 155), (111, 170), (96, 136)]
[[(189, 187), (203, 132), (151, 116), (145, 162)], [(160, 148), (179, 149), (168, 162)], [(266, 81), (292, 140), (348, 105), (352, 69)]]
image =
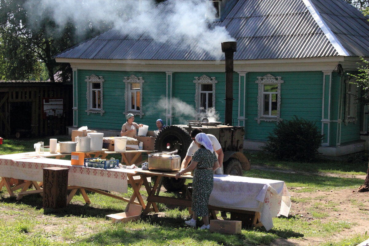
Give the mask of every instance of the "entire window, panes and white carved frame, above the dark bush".
[(258, 83), (258, 121), (281, 121), (280, 118), (280, 88), (283, 80), (281, 77), (273, 77), (268, 74), (264, 77), (258, 77), (255, 81)]

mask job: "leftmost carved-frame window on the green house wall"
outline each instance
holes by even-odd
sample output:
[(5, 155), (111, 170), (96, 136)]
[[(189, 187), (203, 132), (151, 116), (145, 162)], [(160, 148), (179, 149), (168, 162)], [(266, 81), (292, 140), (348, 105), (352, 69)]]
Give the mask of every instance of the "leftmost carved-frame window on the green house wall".
[(103, 77), (96, 75), (86, 76), (85, 81), (87, 83), (87, 110), (85, 112), (87, 112), (87, 115), (90, 113), (103, 115), (105, 112), (103, 110)]

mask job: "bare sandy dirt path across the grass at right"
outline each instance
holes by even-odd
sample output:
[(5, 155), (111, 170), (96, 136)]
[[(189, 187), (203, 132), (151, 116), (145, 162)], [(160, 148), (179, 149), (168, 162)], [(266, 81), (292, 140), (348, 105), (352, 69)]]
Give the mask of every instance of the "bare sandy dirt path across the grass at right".
[[(260, 170), (273, 170), (272, 167), (262, 165), (252, 165), (252, 168)], [(274, 169), (279, 172), (286, 173), (304, 173), (291, 170)], [(307, 174), (312, 174), (308, 173)], [(349, 177), (365, 180), (365, 175), (337, 175), (334, 173), (313, 173), (322, 176), (333, 177)], [(346, 238), (352, 238), (357, 234), (363, 235), (365, 231), (369, 233), (369, 193), (359, 193), (357, 189), (345, 189), (345, 190), (332, 190), (332, 191), (315, 191), (310, 193), (298, 193), (299, 188), (288, 187), (291, 197), (298, 198), (311, 198), (310, 202), (292, 202), (290, 216), (299, 216), (303, 221), (312, 222), (315, 220), (311, 215), (311, 208), (318, 207), (321, 212), (327, 213), (325, 218), (319, 220), (323, 223), (333, 221), (345, 221), (352, 223), (350, 229), (344, 229), (343, 231), (328, 236), (326, 238), (314, 238), (309, 236), (303, 236), (299, 239), (278, 239), (275, 240), (272, 246), (286, 246), (286, 245), (321, 245), (325, 242), (338, 242)], [(332, 205), (334, 204), (333, 209)], [(326, 208), (329, 207), (330, 209)]]

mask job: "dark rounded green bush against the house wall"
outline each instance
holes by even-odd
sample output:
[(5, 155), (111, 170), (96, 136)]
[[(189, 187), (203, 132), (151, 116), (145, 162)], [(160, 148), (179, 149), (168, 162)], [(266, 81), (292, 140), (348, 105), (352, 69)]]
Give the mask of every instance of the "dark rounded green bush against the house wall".
[(280, 121), (262, 149), (276, 159), (308, 162), (319, 154), (322, 140), (323, 135), (313, 122), (295, 116), (290, 121)]

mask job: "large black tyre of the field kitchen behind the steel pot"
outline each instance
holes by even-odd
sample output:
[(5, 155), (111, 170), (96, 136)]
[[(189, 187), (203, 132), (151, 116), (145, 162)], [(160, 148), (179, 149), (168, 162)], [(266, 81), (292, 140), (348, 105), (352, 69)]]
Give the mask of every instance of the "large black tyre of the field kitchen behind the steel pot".
[(187, 149), (190, 147), (191, 137), (186, 129), (176, 125), (164, 127), (155, 139), (155, 150), (158, 152), (177, 151), (181, 161), (186, 157)]

